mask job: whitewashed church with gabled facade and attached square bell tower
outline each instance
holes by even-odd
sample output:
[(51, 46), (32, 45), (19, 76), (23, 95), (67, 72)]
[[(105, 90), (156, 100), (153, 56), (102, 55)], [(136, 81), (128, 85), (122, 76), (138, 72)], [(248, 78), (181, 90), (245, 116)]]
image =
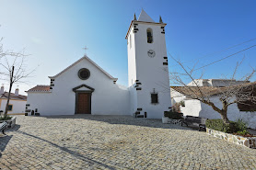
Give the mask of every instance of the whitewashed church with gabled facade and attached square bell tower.
[(87, 55), (61, 73), (49, 76), (50, 85), (27, 91), (26, 112), (31, 115), (134, 115), (160, 119), (171, 106), (165, 40), (167, 24), (155, 22), (142, 10), (134, 16), (125, 39), (128, 51), (128, 87), (118, 85)]

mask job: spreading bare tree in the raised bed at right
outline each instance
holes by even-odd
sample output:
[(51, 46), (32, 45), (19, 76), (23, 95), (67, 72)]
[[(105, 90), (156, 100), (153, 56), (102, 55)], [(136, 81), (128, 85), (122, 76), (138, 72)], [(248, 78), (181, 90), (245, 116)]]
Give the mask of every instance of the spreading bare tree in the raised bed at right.
[[(170, 73), (170, 80), (174, 84), (183, 85), (183, 93), (186, 94), (189, 98), (196, 99), (202, 103), (210, 106), (216, 112), (218, 112), (223, 119), (224, 123), (229, 123), (227, 118), (227, 108), (233, 104), (256, 104), (256, 82), (254, 83), (243, 83), (239, 85), (234, 85), (236, 82), (236, 75), (238, 72), (239, 65), (241, 62), (237, 63), (237, 66), (234, 70), (234, 73), (229, 78), (229, 83), (225, 87), (215, 87), (209, 86), (205, 88), (204, 86), (199, 85), (198, 81), (194, 78), (194, 67), (186, 68), (180, 61), (176, 60), (171, 56), (171, 58), (177, 62), (183, 73)], [(252, 68), (250, 74), (245, 74), (241, 81), (249, 82), (252, 76), (255, 74), (255, 70)], [(203, 77), (201, 74), (200, 78)], [(185, 84), (184, 79), (189, 78), (194, 86)], [(219, 101), (222, 103), (222, 108), (218, 108), (216, 103), (213, 101), (213, 96), (217, 96)]]

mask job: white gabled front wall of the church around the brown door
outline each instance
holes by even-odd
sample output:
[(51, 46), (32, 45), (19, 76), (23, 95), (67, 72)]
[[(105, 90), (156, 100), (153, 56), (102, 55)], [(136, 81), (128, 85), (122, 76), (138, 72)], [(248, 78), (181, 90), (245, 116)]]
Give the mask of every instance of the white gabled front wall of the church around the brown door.
[[(81, 68), (90, 71), (87, 80), (81, 80), (77, 76)], [(72, 89), (85, 84), (95, 89), (91, 96), (92, 115), (129, 114), (130, 101), (127, 87), (113, 84), (110, 77), (86, 59), (58, 75), (53, 84), (52, 93), (28, 93), (30, 105), (28, 109), (38, 108), (41, 116), (73, 115), (76, 108), (76, 93)]]

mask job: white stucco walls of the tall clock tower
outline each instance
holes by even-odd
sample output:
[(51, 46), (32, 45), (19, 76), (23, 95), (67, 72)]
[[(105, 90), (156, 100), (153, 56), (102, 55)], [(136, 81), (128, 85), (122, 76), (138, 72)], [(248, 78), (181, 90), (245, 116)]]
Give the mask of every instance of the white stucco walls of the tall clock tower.
[[(161, 27), (165, 25), (157, 25), (154, 23), (135, 22), (138, 31), (136, 33), (131, 29), (128, 36), (132, 36), (132, 48), (128, 44), (128, 69), (129, 69), (129, 85), (135, 85), (134, 79), (138, 80), (142, 90), (134, 91), (131, 89), (132, 111), (136, 108), (142, 108), (141, 114), (147, 113), (149, 119), (161, 119), (164, 111), (169, 110), (170, 92), (169, 92), (169, 70), (164, 57), (167, 57), (165, 34), (162, 34)], [(134, 26), (132, 26), (134, 27)], [(153, 30), (153, 43), (147, 43), (146, 29)], [(147, 51), (156, 52), (154, 58), (147, 55)], [(151, 104), (151, 93), (158, 94), (158, 104)], [(136, 98), (135, 98), (136, 97)], [(136, 107), (136, 108), (135, 108)], [(133, 113), (132, 113), (133, 114)]]

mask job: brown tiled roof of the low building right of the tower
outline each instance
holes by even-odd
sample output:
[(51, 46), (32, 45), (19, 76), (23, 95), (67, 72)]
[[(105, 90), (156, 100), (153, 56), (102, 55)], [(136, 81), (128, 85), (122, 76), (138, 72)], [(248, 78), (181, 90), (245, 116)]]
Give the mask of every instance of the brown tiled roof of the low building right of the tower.
[(232, 86), (225, 86), (225, 87), (217, 87), (217, 86), (170, 86), (170, 88), (174, 89), (177, 92), (180, 92), (182, 95), (185, 96), (218, 96), (227, 92), (228, 90), (238, 89), (239, 88), (246, 88), (248, 86), (256, 85), (256, 82), (241, 84), (241, 85), (232, 85)]

